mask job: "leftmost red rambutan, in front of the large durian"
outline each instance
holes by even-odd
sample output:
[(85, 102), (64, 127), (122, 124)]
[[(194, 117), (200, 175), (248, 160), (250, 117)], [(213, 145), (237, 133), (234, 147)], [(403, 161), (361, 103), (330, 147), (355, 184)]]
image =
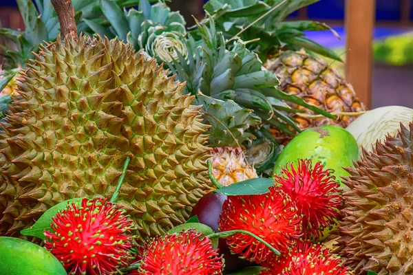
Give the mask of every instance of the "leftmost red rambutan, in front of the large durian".
[(45, 247), (68, 274), (112, 274), (133, 260), (134, 223), (120, 206), (107, 199), (72, 203), (45, 231)]

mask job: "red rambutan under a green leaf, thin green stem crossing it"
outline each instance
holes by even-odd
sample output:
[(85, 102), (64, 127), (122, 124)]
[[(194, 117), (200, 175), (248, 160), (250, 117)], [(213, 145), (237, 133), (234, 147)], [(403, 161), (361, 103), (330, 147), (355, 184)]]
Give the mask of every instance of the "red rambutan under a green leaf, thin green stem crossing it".
[[(301, 217), (290, 197), (271, 186), (262, 195), (229, 196), (222, 206), (220, 231), (246, 230), (260, 236), (281, 253), (288, 252), (301, 236)], [(273, 252), (247, 234), (237, 233), (226, 238), (231, 252), (242, 259), (260, 263)]]

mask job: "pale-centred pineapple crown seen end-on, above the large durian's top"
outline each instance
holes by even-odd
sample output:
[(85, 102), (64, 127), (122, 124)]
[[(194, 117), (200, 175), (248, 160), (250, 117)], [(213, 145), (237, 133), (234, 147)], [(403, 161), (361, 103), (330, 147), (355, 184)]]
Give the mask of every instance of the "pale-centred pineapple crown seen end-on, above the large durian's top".
[[(186, 56), (187, 49), (181, 42), (187, 34), (184, 17), (179, 12), (171, 12), (164, 1), (156, 2), (151, 5), (148, 0), (140, 0), (138, 10), (126, 10), (114, 1), (100, 0), (105, 22), (96, 22), (100, 20), (96, 19), (85, 23), (100, 36), (109, 39), (117, 36), (121, 41), (132, 43), (136, 50), (145, 49), (159, 63), (171, 61), (170, 45), (176, 45), (177, 51)], [(176, 53), (172, 55), (176, 57)]]

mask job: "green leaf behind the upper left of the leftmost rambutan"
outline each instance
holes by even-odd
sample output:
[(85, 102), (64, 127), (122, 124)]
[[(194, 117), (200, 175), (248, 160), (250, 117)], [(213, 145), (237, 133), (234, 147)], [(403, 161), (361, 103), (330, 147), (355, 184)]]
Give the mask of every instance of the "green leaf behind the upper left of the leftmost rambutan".
[(30, 228), (21, 230), (20, 233), (25, 236), (36, 236), (39, 239), (45, 239), (44, 232), (45, 230), (52, 230), (52, 219), (56, 217), (56, 214), (65, 210), (71, 203), (80, 202), (82, 199), (83, 198), (67, 199), (66, 201), (56, 204), (56, 206), (53, 206), (44, 212), (34, 225), (30, 226)]

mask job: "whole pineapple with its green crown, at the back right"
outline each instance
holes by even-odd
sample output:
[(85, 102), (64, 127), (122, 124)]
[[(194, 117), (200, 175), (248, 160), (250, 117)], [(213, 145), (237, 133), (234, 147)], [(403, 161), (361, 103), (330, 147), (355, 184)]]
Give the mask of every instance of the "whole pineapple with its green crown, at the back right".
[[(279, 78), (279, 89), (288, 95), (303, 99), (306, 103), (328, 112), (366, 111), (366, 107), (357, 98), (352, 86), (346, 83), (339, 73), (326, 62), (315, 58), (315, 54), (337, 61), (341, 58), (325, 47), (310, 41), (304, 31), (331, 30), (325, 23), (315, 21), (284, 21), (299, 8), (319, 0), (210, 0), (204, 5), (205, 10), (215, 18), (217, 29), (226, 39), (238, 35), (245, 41), (253, 41), (248, 46), (259, 54), (266, 69), (275, 72)], [(281, 5), (279, 5), (282, 3)], [(275, 8), (279, 5), (278, 8)], [(272, 12), (270, 12), (272, 10)], [(266, 14), (270, 12), (270, 14)], [(246, 28), (257, 19), (251, 27)], [(207, 23), (204, 21), (204, 23)], [(240, 34), (240, 30), (243, 32)], [(257, 41), (257, 39), (260, 39)], [(275, 53), (275, 54), (273, 54)], [(283, 100), (291, 109), (315, 115), (310, 108)], [(290, 132), (271, 125), (271, 133), (278, 142), (286, 144), (293, 137), (294, 130), (301, 131), (322, 124), (336, 124), (346, 127), (356, 115), (339, 115), (337, 118), (303, 118), (299, 112), (286, 109), (284, 114), (295, 121), (289, 126)], [(281, 131), (280, 131), (281, 130)]]

